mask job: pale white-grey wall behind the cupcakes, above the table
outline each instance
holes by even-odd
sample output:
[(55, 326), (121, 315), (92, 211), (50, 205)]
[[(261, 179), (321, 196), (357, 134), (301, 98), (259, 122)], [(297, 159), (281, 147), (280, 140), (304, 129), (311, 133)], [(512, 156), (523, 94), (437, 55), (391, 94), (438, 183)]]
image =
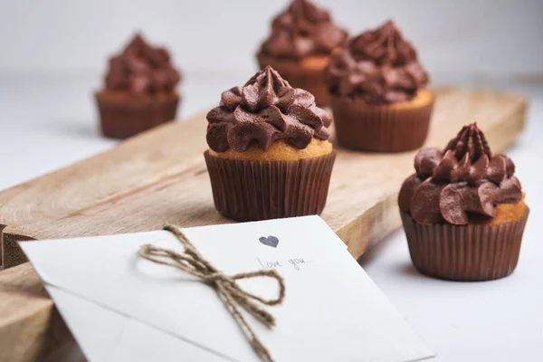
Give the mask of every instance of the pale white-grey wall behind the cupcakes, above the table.
[[(351, 33), (393, 17), (432, 73), (543, 73), (541, 0), (316, 0)], [(134, 30), (184, 69), (246, 70), (286, 0), (3, 0), (0, 69), (96, 71)]]

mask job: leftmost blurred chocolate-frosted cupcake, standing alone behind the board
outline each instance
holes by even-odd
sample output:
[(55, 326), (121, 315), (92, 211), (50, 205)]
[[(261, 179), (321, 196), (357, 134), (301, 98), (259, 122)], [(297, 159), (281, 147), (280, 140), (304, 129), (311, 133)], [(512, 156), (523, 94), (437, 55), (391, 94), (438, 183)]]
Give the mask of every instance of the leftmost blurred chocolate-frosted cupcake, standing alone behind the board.
[(137, 34), (110, 58), (105, 87), (96, 93), (100, 129), (110, 138), (129, 138), (176, 118), (181, 79), (165, 48), (153, 47)]

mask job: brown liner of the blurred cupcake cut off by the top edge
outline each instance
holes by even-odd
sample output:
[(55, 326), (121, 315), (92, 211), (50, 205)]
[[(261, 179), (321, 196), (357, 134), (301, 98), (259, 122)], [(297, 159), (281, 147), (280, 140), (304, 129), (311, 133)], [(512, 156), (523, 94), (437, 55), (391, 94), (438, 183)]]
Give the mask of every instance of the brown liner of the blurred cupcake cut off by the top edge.
[(323, 72), (326, 62), (322, 67), (304, 67), (302, 63), (291, 60), (276, 60), (268, 55), (257, 54), (261, 69), (266, 65), (279, 71), (281, 77), (289, 81), (294, 88), (301, 88), (309, 91), (314, 97), (318, 107), (329, 106), (329, 91), (324, 83)]

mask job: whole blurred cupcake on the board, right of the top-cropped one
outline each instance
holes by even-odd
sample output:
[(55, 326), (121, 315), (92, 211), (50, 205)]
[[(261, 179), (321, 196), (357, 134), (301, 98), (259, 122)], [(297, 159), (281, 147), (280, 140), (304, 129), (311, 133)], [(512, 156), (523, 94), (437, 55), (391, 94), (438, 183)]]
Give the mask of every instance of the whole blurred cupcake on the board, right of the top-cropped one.
[(433, 107), (428, 79), (392, 21), (349, 40), (325, 70), (339, 145), (376, 152), (420, 148)]

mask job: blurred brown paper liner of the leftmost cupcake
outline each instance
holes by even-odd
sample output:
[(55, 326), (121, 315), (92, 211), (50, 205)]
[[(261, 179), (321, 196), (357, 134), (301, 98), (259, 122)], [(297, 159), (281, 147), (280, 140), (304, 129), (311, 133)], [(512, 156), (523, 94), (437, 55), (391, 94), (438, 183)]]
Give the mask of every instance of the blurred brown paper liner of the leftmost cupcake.
[(96, 101), (102, 134), (124, 139), (176, 119), (179, 96), (119, 98), (98, 92)]

